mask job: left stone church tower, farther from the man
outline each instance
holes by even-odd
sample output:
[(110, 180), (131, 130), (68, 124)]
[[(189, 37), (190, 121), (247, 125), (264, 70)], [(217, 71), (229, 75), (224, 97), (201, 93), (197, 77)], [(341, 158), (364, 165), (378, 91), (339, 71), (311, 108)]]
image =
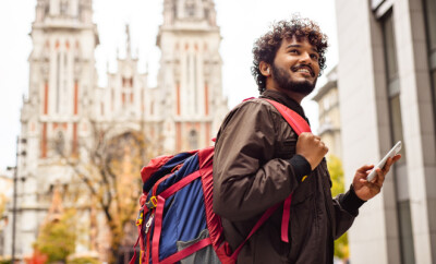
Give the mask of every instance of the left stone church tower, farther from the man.
[[(26, 155), (17, 161), (17, 256), (33, 252), (56, 182), (69, 187), (73, 171), (59, 154), (78, 156), (78, 142), (88, 139), (97, 84), (94, 51), (99, 44), (92, 14), (90, 0), (37, 0), (28, 98), (21, 113), (20, 153)], [(12, 237), (11, 224), (5, 232), (7, 255)]]

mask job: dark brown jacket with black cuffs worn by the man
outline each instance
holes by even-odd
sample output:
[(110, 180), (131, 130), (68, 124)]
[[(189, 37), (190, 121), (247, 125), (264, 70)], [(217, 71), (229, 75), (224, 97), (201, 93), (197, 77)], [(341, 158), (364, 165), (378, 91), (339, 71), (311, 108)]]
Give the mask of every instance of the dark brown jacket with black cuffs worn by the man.
[[(286, 95), (266, 91), (263, 96), (304, 117), (301, 106)], [(290, 242), (280, 239), (280, 206), (246, 242), (238, 263), (332, 263), (334, 239), (358, 215), (362, 203), (352, 190), (331, 199), (325, 159), (306, 180), (296, 180), (290, 164), (295, 144), (296, 134), (263, 99), (237, 106), (221, 125), (214, 156), (214, 211), (222, 217), (225, 239), (232, 250), (267, 208), (293, 192)]]

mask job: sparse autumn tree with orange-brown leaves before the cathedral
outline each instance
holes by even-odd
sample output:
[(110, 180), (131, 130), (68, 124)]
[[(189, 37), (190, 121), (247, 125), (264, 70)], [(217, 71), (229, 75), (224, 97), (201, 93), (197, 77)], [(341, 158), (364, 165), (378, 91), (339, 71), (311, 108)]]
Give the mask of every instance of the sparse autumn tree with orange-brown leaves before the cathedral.
[(81, 142), (78, 147), (82, 157), (77, 153), (65, 155), (63, 147), (59, 147), (61, 144), (55, 149), (59, 149), (58, 154), (86, 187), (90, 196), (86, 200), (88, 206), (105, 216), (106, 223), (94, 225), (107, 226), (110, 235), (107, 261), (113, 263), (124, 239), (125, 225), (135, 223), (142, 193), (141, 168), (147, 157), (156, 156), (159, 147), (158, 141), (149, 142), (141, 132), (114, 134), (111, 125), (95, 122), (92, 131), (89, 141)]

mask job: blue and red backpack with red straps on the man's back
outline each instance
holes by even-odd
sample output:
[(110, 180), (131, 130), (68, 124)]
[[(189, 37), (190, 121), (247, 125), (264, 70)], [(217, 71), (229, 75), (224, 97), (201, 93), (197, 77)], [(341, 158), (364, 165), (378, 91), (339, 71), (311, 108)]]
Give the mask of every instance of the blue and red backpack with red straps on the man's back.
[[(251, 98), (250, 98), (251, 99)], [(286, 106), (269, 100), (296, 134), (310, 132), (307, 122)], [(140, 263), (233, 264), (250, 237), (281, 205), (268, 208), (233, 252), (223, 240), (220, 216), (213, 211), (214, 146), (160, 156), (141, 170), (143, 194), (136, 217)], [(288, 226), (292, 194), (284, 200), (281, 239), (289, 242)], [(136, 260), (136, 251), (130, 262)]]

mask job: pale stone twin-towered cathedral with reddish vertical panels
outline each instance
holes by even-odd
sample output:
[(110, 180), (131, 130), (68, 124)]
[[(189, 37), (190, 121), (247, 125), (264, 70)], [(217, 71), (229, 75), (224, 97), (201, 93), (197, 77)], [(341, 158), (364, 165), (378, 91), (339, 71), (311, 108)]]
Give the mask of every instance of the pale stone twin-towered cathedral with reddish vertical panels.
[[(59, 196), (74, 182), (76, 171), (62, 157), (89, 158), (85, 148), (96, 139), (93, 128), (105, 128), (107, 140), (143, 134), (157, 154), (171, 154), (210, 145), (228, 112), (213, 0), (164, 0), (156, 87), (148, 87), (147, 73), (137, 70), (129, 26), (125, 57), (118, 58), (116, 72), (107, 73), (107, 86), (98, 86), (99, 35), (92, 0), (37, 0), (29, 36), (28, 97), (19, 145), (25, 155), (17, 159), (15, 226), (10, 220), (4, 235), (4, 255), (12, 254), (14, 243), (19, 259), (33, 253), (40, 225), (56, 207), (53, 193)], [(90, 215), (83, 211), (81, 216), (89, 230)], [(83, 236), (75, 251), (94, 250), (92, 240)]]

